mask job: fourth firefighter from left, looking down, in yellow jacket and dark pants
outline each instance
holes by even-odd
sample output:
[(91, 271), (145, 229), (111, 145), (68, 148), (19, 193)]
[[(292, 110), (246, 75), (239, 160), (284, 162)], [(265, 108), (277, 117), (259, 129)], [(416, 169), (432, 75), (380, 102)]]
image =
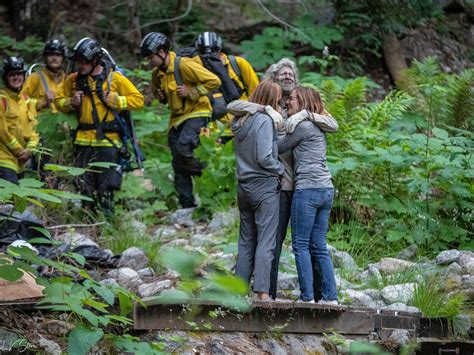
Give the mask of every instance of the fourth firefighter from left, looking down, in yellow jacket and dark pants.
[[(183, 208), (195, 207), (192, 176), (201, 175), (204, 164), (194, 157), (199, 134), (212, 115), (207, 95), (221, 84), (219, 78), (192, 58), (182, 58), (175, 78), (176, 53), (160, 32), (147, 34), (140, 44), (142, 57), (155, 69), (152, 91), (161, 103), (168, 103), (171, 118), (168, 144), (172, 154), (174, 184)], [(182, 81), (182, 85), (178, 82)]]

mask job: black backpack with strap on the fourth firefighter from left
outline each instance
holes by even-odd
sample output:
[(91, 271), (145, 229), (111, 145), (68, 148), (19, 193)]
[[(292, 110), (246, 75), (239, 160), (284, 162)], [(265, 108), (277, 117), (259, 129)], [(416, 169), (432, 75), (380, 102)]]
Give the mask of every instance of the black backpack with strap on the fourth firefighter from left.
[[(174, 60), (174, 76), (178, 85), (183, 85), (183, 79), (179, 71), (181, 58), (183, 56), (193, 57), (194, 55), (198, 54), (196, 49), (192, 47), (182, 48), (176, 52), (176, 58)], [(227, 114), (227, 104), (231, 101), (239, 99), (240, 96), (242, 96), (243, 90), (229, 77), (227, 68), (224, 66), (224, 64), (222, 64), (218, 53), (203, 54), (200, 55), (200, 58), (204, 67), (210, 72), (214, 73), (221, 80), (221, 86), (208, 95), (209, 101), (212, 105), (211, 120), (215, 121)], [(235, 71), (233, 65), (232, 68)], [(240, 74), (240, 70), (238, 70), (238, 73)]]

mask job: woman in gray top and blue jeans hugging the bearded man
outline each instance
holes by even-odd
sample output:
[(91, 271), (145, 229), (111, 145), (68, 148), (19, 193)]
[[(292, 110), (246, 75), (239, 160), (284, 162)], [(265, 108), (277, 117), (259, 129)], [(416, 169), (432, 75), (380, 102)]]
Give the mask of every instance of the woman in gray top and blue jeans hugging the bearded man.
[[(319, 94), (305, 87), (290, 95), (288, 114), (301, 110), (324, 111)], [(300, 300), (315, 302), (313, 290), (313, 260), (318, 263), (322, 281), (322, 300), (318, 303), (337, 304), (334, 268), (326, 246), (329, 215), (334, 187), (326, 161), (326, 136), (314, 123), (303, 120), (292, 134), (278, 141), (278, 151), (292, 149), (295, 192), (291, 204), (291, 236), (300, 284)], [(311, 258), (313, 256), (313, 260)]]

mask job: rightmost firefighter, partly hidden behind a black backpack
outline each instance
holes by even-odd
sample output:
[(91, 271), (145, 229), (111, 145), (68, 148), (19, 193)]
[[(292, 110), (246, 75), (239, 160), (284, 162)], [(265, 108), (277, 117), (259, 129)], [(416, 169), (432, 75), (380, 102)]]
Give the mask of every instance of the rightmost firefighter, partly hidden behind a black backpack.
[[(216, 53), (227, 69), (230, 79), (237, 86), (241, 96), (239, 100), (247, 101), (258, 86), (259, 80), (252, 65), (244, 58), (234, 55), (227, 55), (222, 52), (222, 38), (215, 32), (201, 33), (195, 43), (195, 47), (200, 55)], [(199, 58), (199, 56), (197, 56)], [(202, 61), (200, 61), (202, 64)], [(227, 114), (220, 119), (225, 125), (224, 135), (221, 137), (225, 143), (233, 137), (230, 130), (230, 123), (233, 115)]]

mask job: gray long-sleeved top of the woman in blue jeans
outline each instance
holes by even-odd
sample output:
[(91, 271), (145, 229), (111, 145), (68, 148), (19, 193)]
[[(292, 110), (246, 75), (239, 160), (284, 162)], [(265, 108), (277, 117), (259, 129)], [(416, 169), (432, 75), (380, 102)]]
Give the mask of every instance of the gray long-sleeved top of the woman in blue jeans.
[(293, 149), (295, 190), (333, 187), (326, 161), (326, 136), (310, 121), (277, 142), (282, 154)]

